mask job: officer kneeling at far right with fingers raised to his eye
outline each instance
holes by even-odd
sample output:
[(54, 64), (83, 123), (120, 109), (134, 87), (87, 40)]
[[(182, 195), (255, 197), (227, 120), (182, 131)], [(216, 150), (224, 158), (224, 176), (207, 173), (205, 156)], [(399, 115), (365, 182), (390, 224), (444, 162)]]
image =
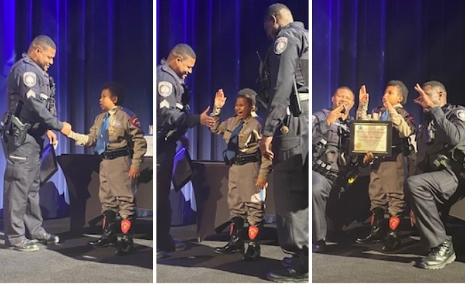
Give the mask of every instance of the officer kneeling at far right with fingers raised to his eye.
[(423, 88), (416, 84), (415, 89), (420, 96), (414, 101), (421, 105), (426, 119), (416, 134), (416, 164), (423, 174), (407, 179), (407, 196), (416, 225), (430, 247), (419, 265), (442, 269), (454, 262), (455, 252), (437, 205), (443, 205), (459, 185), (463, 160), (457, 160), (461, 153), (452, 155), (452, 149), (464, 146), (465, 108), (447, 103), (447, 92), (440, 82), (426, 82)]

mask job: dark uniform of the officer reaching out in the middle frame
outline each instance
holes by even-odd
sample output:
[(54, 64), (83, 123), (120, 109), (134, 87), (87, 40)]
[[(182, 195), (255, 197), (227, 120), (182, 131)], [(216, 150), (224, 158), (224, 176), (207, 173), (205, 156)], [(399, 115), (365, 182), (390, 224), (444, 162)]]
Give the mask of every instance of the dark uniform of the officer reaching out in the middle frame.
[[(169, 131), (185, 132), (185, 129), (200, 124), (200, 115), (186, 112), (188, 90), (183, 80), (174, 70), (161, 60), (156, 67), (157, 95), (156, 103), (156, 247), (161, 250), (175, 250), (170, 235), (171, 204), (169, 200), (173, 159), (177, 138), (164, 138)], [(185, 102), (182, 104), (182, 102)], [(176, 134), (173, 134), (176, 136)], [(173, 137), (171, 136), (171, 137)]]

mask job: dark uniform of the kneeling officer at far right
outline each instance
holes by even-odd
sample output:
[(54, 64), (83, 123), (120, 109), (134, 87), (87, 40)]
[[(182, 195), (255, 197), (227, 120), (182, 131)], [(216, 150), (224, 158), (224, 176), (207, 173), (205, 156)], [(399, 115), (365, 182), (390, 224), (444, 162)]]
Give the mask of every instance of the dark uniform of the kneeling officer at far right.
[[(447, 164), (452, 162), (450, 149), (463, 145), (464, 141), (465, 108), (454, 105), (432, 108), (416, 134), (416, 164), (423, 174), (407, 179), (406, 193), (411, 200), (416, 225), (430, 248), (439, 246), (442, 252), (447, 251), (450, 256), (448, 262), (455, 259), (454, 255), (452, 257), (454, 249), (450, 238), (447, 238), (437, 204), (443, 205), (457, 190), (457, 174)], [(440, 163), (443, 157), (447, 157), (445, 164)], [(441, 259), (433, 262), (423, 259), (421, 265), (428, 269), (443, 267), (445, 263)]]

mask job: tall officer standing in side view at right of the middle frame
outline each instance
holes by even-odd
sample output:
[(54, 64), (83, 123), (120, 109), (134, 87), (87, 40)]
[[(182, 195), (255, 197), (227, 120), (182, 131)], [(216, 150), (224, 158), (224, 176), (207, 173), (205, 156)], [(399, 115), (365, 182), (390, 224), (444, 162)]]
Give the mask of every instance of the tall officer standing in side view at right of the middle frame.
[[(260, 149), (273, 160), (276, 221), (280, 246), (292, 254), (284, 271), (268, 273), (278, 282), (308, 281), (309, 277), (309, 87), (308, 71), (299, 59), (309, 58), (309, 31), (302, 22), (294, 22), (283, 4), (268, 7), (264, 28), (273, 46), (268, 49), (265, 69), (269, 75), (268, 117), (263, 127)], [(308, 65), (307, 65), (308, 67)], [(299, 114), (290, 112), (294, 80), (299, 91)], [(287, 108), (290, 106), (290, 108)], [(277, 134), (276, 131), (278, 131)]]

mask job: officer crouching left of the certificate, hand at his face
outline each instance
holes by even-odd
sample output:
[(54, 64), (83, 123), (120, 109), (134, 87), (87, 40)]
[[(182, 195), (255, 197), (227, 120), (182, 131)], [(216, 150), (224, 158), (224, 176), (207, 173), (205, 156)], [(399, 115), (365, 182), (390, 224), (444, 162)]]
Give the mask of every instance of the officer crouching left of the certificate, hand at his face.
[[(348, 133), (348, 124), (352, 120), (349, 111), (354, 106), (354, 93), (348, 87), (342, 86), (337, 88), (331, 101), (333, 102), (332, 109), (323, 109), (312, 117), (312, 146), (314, 146), (315, 151), (318, 147), (323, 147), (322, 153), (319, 153), (318, 157), (315, 158), (324, 163), (321, 167), (313, 167), (314, 170), (311, 172), (313, 252), (325, 251), (325, 237), (328, 227), (325, 214), (326, 204), (330, 191), (337, 186), (335, 178), (337, 178), (341, 165), (347, 164), (347, 161), (342, 160), (341, 154), (345, 148), (344, 144), (347, 142), (343, 135)], [(329, 168), (326, 168), (326, 164), (329, 165)]]

